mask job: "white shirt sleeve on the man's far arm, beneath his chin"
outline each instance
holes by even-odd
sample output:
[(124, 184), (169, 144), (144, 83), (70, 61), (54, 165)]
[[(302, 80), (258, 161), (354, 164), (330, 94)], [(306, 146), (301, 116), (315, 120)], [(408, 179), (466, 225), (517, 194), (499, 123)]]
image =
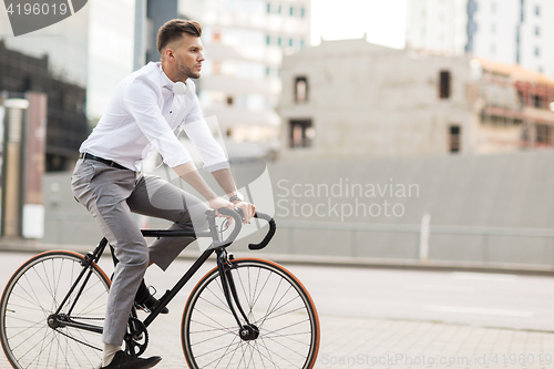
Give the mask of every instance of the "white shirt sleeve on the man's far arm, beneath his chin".
[(188, 139), (198, 150), (201, 158), (204, 162), (204, 170), (214, 172), (223, 168), (229, 168), (227, 156), (222, 146), (215, 141), (209, 127), (202, 114), (201, 104), (196, 94), (193, 94), (193, 107), (185, 117), (183, 129)]

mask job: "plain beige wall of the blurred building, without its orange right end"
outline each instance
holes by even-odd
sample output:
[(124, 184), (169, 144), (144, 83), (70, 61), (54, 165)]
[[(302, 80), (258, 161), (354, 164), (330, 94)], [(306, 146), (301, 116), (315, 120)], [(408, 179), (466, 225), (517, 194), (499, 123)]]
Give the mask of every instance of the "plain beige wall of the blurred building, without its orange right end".
[[(440, 99), (440, 72), (451, 95)], [(308, 101), (295, 102), (295, 80), (308, 80)], [(479, 151), (472, 70), (466, 57), (423, 55), (367, 43), (328, 41), (286, 58), (283, 66), (280, 158), (352, 158), (447, 154), (449, 129), (461, 126), (463, 153)], [(291, 120), (311, 119), (311, 147), (289, 148)]]

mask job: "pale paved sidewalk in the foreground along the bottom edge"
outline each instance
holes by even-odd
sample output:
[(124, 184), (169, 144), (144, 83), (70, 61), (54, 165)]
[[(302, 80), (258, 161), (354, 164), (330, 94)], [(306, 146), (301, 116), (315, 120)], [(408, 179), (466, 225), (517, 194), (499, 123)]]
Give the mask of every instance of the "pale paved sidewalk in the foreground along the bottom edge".
[[(150, 329), (151, 344), (145, 355), (162, 356), (156, 368), (187, 368), (179, 325), (173, 318), (161, 319)], [(320, 324), (316, 369), (554, 366), (554, 334), (550, 332), (331, 316), (320, 317)], [(8, 368), (2, 356), (0, 369)]]

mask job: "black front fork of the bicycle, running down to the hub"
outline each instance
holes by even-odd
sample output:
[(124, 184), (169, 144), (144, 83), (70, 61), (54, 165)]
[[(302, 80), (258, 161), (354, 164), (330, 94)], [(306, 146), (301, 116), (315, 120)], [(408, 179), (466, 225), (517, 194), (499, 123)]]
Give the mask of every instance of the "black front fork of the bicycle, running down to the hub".
[[(227, 305), (229, 306), (230, 312), (235, 317), (238, 325), (238, 336), (245, 341), (254, 340), (259, 336), (259, 329), (253, 325), (248, 317), (246, 316), (240, 301), (238, 299), (237, 289), (235, 287), (235, 281), (233, 280), (233, 275), (230, 270), (233, 269), (233, 256), (227, 257), (227, 252), (225, 249), (216, 250), (217, 254), (217, 269), (219, 270), (219, 278), (222, 279), (223, 293)], [(240, 314), (240, 316), (237, 314)], [(240, 321), (240, 317), (244, 320)]]

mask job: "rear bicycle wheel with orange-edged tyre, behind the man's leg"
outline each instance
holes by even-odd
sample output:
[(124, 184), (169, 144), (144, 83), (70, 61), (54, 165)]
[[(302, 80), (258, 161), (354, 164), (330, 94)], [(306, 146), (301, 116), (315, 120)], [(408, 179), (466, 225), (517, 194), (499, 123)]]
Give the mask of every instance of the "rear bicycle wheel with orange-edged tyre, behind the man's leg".
[[(13, 368), (96, 368), (101, 362), (102, 335), (48, 324), (83, 270), (82, 260), (76, 253), (47, 252), (25, 262), (11, 277), (0, 300), (0, 340)], [(109, 288), (110, 278), (92, 264), (60, 316), (102, 327)]]

